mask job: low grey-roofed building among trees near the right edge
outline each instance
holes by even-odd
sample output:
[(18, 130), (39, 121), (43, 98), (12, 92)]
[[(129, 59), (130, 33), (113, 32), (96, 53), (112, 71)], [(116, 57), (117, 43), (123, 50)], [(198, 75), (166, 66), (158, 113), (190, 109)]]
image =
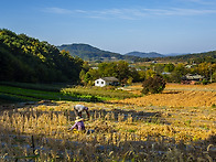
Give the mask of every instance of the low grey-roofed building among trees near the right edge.
[(198, 75), (198, 74), (187, 74), (185, 76), (182, 77), (182, 84), (190, 84), (190, 85), (194, 85), (198, 82), (202, 82), (204, 79), (204, 76)]

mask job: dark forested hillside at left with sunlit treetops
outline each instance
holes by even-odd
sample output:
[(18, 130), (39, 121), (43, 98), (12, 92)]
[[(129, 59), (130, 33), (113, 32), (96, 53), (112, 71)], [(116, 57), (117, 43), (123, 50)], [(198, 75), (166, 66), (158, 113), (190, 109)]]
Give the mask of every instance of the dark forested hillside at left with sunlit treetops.
[(0, 80), (76, 83), (83, 60), (60, 52), (47, 42), (0, 29)]

